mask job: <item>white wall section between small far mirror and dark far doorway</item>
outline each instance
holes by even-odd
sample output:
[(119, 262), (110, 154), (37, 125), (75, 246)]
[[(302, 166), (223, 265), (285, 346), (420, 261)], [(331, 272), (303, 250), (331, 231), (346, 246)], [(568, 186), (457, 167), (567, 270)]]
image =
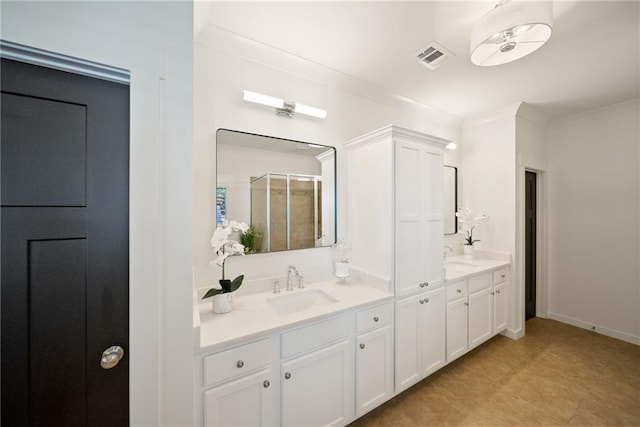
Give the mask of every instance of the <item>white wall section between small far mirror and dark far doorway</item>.
[[(462, 129), (460, 170), (460, 206), (475, 214), (486, 214), (489, 221), (476, 227), (473, 238), (479, 250), (505, 252), (516, 250), (516, 118), (519, 105), (505, 107), (465, 120)], [(462, 244), (459, 237), (458, 245)], [(512, 258), (512, 261), (513, 258)], [(514, 286), (516, 265), (511, 264), (509, 292), (510, 336), (523, 332), (517, 309), (519, 291)]]

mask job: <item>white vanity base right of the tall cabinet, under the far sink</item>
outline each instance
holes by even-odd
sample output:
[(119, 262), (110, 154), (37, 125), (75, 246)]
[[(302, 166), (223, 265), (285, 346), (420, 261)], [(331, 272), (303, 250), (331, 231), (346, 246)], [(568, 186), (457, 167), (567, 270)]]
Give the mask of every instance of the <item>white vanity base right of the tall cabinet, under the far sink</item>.
[(507, 267), (447, 284), (447, 362), (507, 328)]

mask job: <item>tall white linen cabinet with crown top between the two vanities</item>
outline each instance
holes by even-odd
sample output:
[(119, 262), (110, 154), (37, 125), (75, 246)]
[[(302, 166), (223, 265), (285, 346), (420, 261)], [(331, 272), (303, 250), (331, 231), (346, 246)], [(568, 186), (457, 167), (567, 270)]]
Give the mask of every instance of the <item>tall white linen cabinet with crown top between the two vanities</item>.
[(346, 143), (351, 265), (392, 282), (395, 393), (446, 362), (443, 150), (389, 125)]

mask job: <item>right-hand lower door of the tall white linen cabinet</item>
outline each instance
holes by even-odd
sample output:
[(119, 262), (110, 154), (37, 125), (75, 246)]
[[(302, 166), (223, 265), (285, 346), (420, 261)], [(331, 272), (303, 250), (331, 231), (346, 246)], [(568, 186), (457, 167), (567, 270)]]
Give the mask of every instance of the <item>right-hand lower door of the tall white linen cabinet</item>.
[(422, 377), (445, 364), (445, 289), (422, 294), (420, 304), (420, 367)]

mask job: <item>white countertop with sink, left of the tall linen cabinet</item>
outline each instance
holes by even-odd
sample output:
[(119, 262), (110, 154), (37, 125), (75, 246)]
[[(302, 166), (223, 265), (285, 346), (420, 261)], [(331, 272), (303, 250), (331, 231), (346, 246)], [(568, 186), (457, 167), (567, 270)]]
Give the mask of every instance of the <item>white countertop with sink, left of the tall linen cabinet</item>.
[[(278, 314), (267, 302), (267, 298), (305, 292), (310, 289), (321, 289), (337, 302), (284, 315)], [(225, 314), (212, 313), (211, 299), (200, 300), (197, 302), (198, 312), (194, 313), (195, 345), (196, 349), (205, 350), (211, 346), (263, 335), (277, 329), (293, 327), (309, 320), (320, 320), (353, 308), (375, 305), (391, 299), (393, 294), (389, 292), (354, 279), (347, 279), (344, 284), (338, 280), (329, 280), (310, 283), (304, 289), (295, 288), (293, 291), (282, 289), (280, 294), (269, 291), (236, 296), (234, 310)]]

